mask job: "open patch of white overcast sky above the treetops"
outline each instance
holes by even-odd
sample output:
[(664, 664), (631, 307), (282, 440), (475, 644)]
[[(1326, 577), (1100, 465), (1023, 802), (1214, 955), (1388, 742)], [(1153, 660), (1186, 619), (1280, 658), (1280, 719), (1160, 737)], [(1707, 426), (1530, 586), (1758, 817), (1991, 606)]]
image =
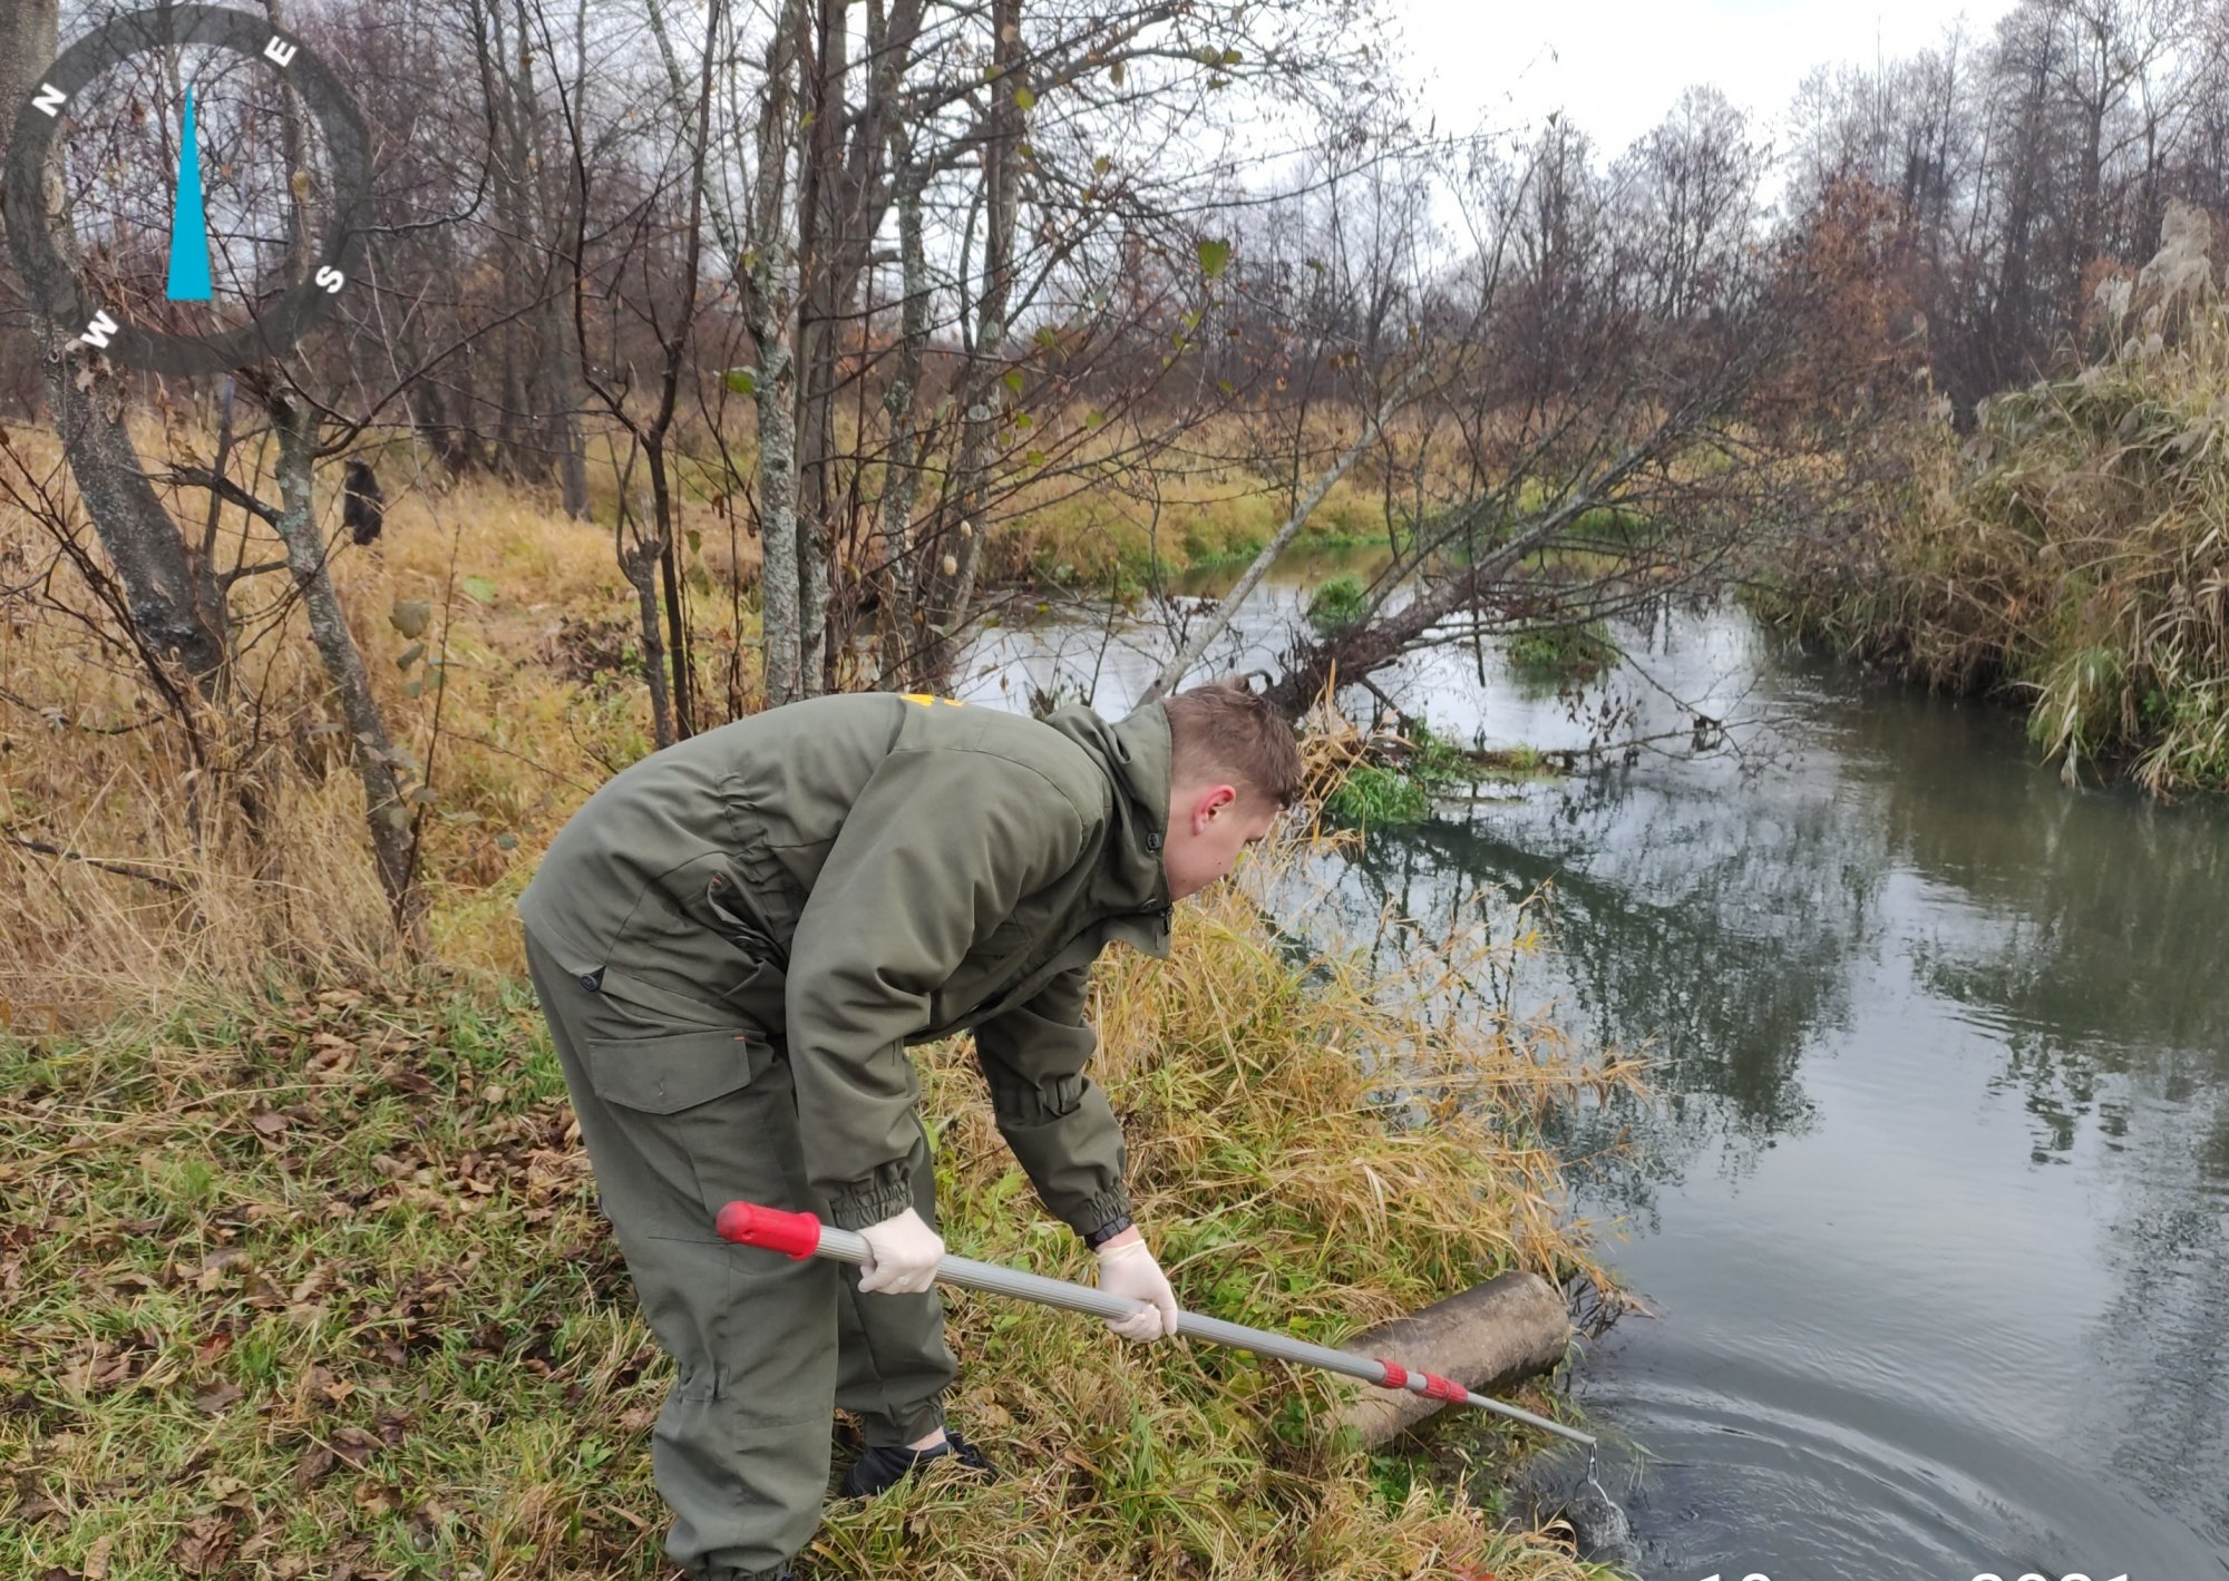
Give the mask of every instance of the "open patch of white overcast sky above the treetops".
[(1690, 82), (1779, 118), (1828, 60), (1870, 62), (1941, 40), (1959, 13), (1986, 36), (2013, 0), (1386, 0), (1442, 131), (1538, 125), (1563, 109), (1607, 160)]

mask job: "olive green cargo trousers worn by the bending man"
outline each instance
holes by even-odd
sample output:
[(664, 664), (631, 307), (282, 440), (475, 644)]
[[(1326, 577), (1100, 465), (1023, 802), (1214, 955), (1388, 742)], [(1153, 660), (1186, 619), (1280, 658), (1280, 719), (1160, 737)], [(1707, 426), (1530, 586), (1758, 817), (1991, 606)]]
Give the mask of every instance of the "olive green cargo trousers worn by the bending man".
[[(952, 1352), (934, 1289), (858, 1292), (858, 1269), (736, 1247), (713, 1234), (731, 1200), (827, 1218), (805, 1187), (780, 1038), (673, 1020), (571, 975), (526, 933), (526, 964), (564, 1067), (635, 1298), (675, 1363), (651, 1432), (673, 1510), (666, 1554), (702, 1581), (778, 1577), (811, 1539), (829, 1483), (836, 1405), (869, 1445), (943, 1425)], [(936, 1225), (921, 1136), (914, 1209)]]

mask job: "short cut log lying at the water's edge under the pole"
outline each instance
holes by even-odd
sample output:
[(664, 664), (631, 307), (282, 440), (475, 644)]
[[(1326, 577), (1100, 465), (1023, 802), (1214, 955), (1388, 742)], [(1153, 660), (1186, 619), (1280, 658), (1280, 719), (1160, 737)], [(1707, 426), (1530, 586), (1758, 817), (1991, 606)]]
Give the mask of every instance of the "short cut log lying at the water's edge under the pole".
[[(1438, 1372), (1480, 1394), (1500, 1394), (1554, 1369), (1569, 1343), (1571, 1318), (1554, 1285), (1538, 1274), (1498, 1274), (1406, 1318), (1364, 1329), (1340, 1349), (1398, 1356), (1409, 1367)], [(1440, 1407), (1442, 1401), (1420, 1394), (1362, 1389), (1340, 1412), (1337, 1425), (1353, 1427), (1364, 1447), (1375, 1447)]]

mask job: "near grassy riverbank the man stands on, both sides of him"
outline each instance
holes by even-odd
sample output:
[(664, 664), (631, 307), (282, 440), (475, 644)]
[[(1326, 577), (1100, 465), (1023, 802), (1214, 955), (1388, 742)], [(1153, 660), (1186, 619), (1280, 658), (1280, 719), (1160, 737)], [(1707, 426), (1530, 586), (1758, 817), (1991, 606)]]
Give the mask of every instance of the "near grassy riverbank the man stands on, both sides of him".
[[(1179, 909), (1166, 966), (1101, 971), (1097, 1069), (1179, 1298), (1337, 1338), (1505, 1267), (1596, 1276), (1534, 1122), (1623, 1073), (1315, 978), (1242, 895)], [(1429, 1125), (1389, 1125), (1366, 1067), (1391, 1051)], [(923, 1067), (954, 1249), (1083, 1276), (965, 1053)], [(11, 1040), (0, 1091), (9, 1574), (666, 1574), (666, 1363), (515, 982)], [(1596, 1574), (1415, 1461), (1326, 1447), (1346, 1385), (979, 1296), (952, 1341), (954, 1421), (1010, 1476), (831, 1503), (807, 1577)]]

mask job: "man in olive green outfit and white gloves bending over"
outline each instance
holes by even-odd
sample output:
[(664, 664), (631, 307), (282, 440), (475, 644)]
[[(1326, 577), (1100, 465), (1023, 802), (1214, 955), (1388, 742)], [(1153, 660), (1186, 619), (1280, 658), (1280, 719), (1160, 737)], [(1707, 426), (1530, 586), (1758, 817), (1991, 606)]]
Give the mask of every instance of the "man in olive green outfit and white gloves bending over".
[[(780, 1579), (845, 1492), (932, 1456), (954, 1361), (932, 1271), (936, 1176), (905, 1047), (974, 1031), (999, 1131), (1099, 1285), (1177, 1300), (1130, 1222), (1123, 1138), (1083, 1073), (1092, 962), (1168, 953), (1172, 902), (1300, 793), (1293, 733), (1244, 686), (1039, 721), (941, 697), (818, 697), (669, 746), (557, 833), (519, 897), (526, 960), (604, 1214), (675, 1381), (653, 1432), (666, 1552)], [(731, 1200), (856, 1229), (843, 1267), (713, 1234)]]

